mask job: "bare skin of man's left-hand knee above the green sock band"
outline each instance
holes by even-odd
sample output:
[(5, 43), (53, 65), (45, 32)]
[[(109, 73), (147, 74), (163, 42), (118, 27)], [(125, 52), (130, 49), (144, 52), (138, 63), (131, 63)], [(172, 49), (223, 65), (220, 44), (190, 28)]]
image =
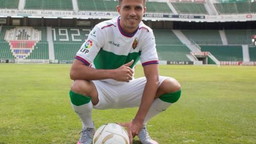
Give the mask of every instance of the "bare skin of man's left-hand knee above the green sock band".
[(72, 85), (70, 90), (74, 93), (78, 93), (81, 95), (90, 95), (90, 82), (85, 81), (85, 80), (75, 80)]

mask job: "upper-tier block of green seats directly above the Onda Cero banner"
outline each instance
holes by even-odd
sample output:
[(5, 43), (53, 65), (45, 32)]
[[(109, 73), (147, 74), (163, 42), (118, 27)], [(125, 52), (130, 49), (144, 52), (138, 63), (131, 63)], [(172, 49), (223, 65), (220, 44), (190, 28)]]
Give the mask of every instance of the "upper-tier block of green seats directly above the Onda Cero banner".
[(72, 0), (26, 0), (25, 9), (73, 10)]

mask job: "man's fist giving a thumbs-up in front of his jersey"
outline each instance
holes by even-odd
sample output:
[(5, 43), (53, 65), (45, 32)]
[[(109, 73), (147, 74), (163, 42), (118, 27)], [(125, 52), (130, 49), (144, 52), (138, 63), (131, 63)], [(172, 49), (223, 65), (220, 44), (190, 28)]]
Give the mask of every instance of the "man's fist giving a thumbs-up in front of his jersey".
[(119, 68), (114, 70), (113, 79), (116, 81), (129, 82), (132, 80), (133, 70), (129, 67), (133, 64), (134, 60), (131, 60), (129, 63), (126, 63)]

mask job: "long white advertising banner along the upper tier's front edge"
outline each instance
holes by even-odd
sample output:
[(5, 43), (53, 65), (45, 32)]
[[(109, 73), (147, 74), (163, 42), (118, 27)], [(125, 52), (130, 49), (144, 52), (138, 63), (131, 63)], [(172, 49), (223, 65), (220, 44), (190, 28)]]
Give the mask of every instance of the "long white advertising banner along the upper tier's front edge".
[[(21, 17), (71, 17), (71, 18), (102, 18), (111, 19), (117, 17), (117, 12), (96, 12), (72, 10), (17, 10), (0, 9), (0, 16), (21, 16)], [(163, 13), (146, 13), (144, 19), (148, 20), (169, 20), (169, 21), (193, 21), (193, 22), (234, 22), (253, 21), (256, 14), (234, 14), (234, 15), (174, 15)]]

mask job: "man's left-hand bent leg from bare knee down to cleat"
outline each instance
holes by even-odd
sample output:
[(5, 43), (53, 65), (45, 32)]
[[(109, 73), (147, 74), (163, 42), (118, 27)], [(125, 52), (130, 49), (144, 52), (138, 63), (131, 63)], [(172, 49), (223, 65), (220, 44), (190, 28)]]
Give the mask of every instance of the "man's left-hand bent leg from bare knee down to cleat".
[(95, 131), (92, 109), (93, 105), (99, 102), (95, 85), (90, 81), (75, 80), (71, 86), (70, 100), (74, 111), (83, 124), (78, 144), (91, 143)]

